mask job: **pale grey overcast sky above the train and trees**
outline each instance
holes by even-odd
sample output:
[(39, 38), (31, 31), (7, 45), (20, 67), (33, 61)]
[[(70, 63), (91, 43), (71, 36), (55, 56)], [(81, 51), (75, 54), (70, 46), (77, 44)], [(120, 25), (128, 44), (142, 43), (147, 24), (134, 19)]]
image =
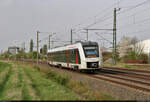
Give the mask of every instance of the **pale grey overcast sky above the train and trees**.
[[(120, 2), (118, 2), (120, 1)], [(8, 46), (21, 46), (32, 38), (36, 44), (36, 31), (55, 32), (53, 40), (70, 40), (70, 29), (75, 29), (73, 38), (85, 40), (86, 33), (80, 28), (96, 23), (89, 28), (112, 29), (113, 9), (117, 11), (117, 40), (122, 36), (137, 36), (139, 40), (150, 38), (150, 3), (134, 9), (144, 0), (0, 0), (0, 50), (7, 50)], [(130, 9), (130, 10), (129, 10)], [(127, 11), (125, 11), (127, 10)], [(125, 11), (125, 12), (123, 12)], [(108, 19), (107, 19), (108, 18)], [(90, 31), (89, 40), (108, 46), (112, 41), (111, 31)], [(41, 33), (40, 39), (48, 38), (48, 34)], [(44, 39), (40, 43), (47, 44)], [(54, 45), (62, 45), (61, 42)]]

